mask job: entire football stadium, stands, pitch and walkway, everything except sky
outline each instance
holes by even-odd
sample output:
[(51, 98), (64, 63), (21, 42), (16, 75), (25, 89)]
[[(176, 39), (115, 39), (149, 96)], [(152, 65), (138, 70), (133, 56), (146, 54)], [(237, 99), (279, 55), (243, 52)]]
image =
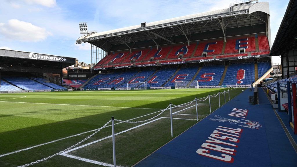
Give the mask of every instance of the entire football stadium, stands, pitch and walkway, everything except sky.
[(297, 166), (297, 1), (274, 41), (271, 12), (244, 0), (103, 32), (81, 22), (88, 69), (0, 49), (0, 166)]

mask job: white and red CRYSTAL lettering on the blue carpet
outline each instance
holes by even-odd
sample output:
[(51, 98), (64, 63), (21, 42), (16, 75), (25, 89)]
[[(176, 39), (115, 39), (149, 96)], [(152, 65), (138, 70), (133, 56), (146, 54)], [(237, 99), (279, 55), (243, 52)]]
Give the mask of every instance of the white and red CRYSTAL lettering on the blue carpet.
[(236, 144), (239, 142), (242, 133), (241, 128), (233, 129), (229, 127), (218, 126), (211, 133), (210, 137), (201, 145), (202, 148), (196, 152), (199, 155), (220, 160), (227, 163), (234, 162), (236, 155)]

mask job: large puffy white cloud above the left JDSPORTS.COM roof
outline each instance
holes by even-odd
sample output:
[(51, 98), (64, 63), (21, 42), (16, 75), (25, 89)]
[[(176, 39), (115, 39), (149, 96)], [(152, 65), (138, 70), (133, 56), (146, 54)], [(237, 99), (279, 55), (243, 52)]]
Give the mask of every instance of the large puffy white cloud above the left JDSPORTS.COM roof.
[(0, 23), (0, 34), (9, 40), (37, 42), (45, 40), (50, 32), (32, 23), (11, 19)]

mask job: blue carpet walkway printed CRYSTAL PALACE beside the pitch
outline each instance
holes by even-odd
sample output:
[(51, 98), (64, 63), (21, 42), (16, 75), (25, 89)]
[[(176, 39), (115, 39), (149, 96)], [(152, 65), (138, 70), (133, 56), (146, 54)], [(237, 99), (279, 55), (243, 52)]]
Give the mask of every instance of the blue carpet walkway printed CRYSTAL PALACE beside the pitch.
[(262, 89), (249, 89), (170, 141), (137, 167), (297, 166), (297, 154)]

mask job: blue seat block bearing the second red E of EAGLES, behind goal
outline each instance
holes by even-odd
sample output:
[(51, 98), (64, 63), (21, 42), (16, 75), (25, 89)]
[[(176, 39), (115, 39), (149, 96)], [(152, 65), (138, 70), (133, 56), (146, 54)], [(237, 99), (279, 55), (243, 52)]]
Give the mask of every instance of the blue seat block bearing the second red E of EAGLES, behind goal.
[(173, 78), (168, 81), (165, 86), (174, 86), (175, 81), (192, 81), (194, 75), (197, 73), (198, 67), (181, 68)]

